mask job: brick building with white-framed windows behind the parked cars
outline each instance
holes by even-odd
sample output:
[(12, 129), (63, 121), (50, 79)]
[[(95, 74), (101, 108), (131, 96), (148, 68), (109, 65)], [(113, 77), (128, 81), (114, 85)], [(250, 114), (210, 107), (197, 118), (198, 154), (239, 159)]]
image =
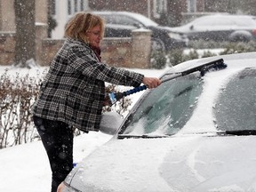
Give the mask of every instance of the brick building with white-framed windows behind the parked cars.
[[(0, 0), (0, 31), (15, 31), (14, 0)], [(49, 3), (49, 4), (48, 4)], [(36, 0), (36, 22), (47, 24), (48, 7), (57, 27), (52, 38), (64, 36), (67, 21), (75, 12), (110, 10), (139, 12), (161, 24), (161, 15), (170, 15), (177, 23), (183, 12), (204, 12), (204, 0)]]

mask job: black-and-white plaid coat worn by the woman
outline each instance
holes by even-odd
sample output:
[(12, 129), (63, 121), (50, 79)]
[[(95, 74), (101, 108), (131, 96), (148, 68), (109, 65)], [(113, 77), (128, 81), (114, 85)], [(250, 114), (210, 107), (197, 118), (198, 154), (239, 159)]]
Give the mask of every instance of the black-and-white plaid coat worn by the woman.
[(105, 83), (139, 86), (143, 75), (101, 63), (88, 44), (67, 39), (52, 60), (32, 114), (99, 131)]

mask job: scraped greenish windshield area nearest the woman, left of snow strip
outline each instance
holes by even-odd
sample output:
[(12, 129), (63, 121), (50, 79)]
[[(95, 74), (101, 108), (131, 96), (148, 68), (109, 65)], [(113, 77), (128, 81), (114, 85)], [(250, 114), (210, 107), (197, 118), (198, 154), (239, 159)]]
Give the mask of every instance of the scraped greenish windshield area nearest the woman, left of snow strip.
[(124, 123), (122, 132), (137, 135), (179, 132), (196, 108), (202, 84), (196, 75), (182, 76), (161, 84), (143, 98)]

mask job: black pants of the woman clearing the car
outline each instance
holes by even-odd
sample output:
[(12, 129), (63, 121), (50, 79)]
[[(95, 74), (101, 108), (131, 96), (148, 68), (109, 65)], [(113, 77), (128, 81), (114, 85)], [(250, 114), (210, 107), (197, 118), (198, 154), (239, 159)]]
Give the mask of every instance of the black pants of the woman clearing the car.
[(33, 116), (37, 132), (47, 152), (52, 169), (52, 192), (56, 192), (73, 168), (73, 131), (60, 121)]

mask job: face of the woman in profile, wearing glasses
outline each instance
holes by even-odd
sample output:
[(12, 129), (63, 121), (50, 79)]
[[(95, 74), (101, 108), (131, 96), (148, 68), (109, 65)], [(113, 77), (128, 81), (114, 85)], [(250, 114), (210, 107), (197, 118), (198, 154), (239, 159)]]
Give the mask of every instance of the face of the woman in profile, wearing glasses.
[(88, 43), (95, 47), (100, 47), (101, 41), (101, 29), (100, 25), (92, 28), (90, 31), (86, 32), (86, 37)]

